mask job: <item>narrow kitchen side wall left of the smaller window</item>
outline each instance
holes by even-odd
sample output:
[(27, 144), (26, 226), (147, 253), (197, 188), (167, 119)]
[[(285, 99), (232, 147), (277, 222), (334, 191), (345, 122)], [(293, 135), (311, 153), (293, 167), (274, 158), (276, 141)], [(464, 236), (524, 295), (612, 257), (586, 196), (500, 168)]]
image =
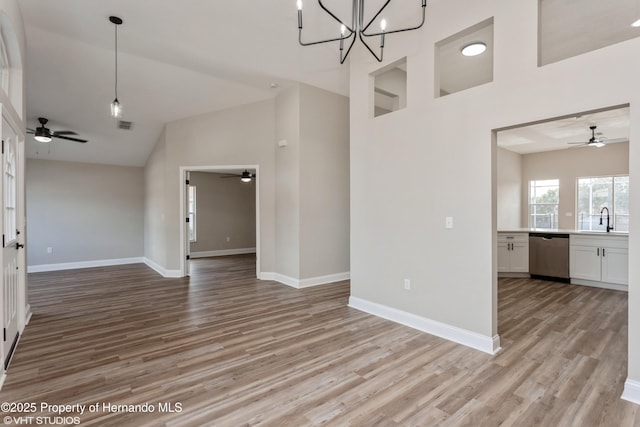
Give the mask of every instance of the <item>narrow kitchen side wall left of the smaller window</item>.
[[(496, 215), (498, 230), (520, 228), (523, 226), (521, 220), (522, 156), (504, 148), (498, 148), (496, 153), (496, 192), (498, 198)], [(526, 222), (524, 224), (526, 227)]]

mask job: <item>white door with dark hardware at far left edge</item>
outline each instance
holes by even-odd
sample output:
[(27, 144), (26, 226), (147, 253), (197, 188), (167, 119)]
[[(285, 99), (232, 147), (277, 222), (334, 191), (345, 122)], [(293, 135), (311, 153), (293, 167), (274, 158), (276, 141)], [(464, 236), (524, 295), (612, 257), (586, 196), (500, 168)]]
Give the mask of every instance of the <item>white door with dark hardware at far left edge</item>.
[(11, 355), (18, 342), (18, 312), (20, 294), (18, 231), (19, 168), (18, 139), (9, 124), (2, 120), (2, 360), (4, 369), (9, 366)]

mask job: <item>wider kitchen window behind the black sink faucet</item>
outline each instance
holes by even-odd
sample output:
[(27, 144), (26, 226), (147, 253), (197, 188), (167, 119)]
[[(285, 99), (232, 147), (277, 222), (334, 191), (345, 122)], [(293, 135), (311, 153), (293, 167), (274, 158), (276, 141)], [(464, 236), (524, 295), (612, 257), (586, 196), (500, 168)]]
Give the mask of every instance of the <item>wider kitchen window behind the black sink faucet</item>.
[(577, 195), (578, 230), (605, 231), (608, 209), (613, 229), (629, 231), (629, 175), (578, 178)]

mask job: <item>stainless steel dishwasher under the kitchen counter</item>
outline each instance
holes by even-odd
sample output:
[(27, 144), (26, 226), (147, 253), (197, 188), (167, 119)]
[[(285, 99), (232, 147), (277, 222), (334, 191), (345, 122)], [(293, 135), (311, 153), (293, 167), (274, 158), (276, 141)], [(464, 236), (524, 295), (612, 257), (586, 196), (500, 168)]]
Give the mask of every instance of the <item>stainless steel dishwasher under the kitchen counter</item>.
[(569, 281), (569, 235), (529, 233), (529, 274)]

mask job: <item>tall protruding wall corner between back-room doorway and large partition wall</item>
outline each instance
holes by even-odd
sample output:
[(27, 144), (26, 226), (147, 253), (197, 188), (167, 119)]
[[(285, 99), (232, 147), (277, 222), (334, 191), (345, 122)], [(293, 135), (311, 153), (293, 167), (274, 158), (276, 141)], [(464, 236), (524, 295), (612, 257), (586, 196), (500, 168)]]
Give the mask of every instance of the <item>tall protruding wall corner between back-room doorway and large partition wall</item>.
[(276, 265), (291, 283), (349, 273), (349, 100), (297, 85), (276, 101)]

